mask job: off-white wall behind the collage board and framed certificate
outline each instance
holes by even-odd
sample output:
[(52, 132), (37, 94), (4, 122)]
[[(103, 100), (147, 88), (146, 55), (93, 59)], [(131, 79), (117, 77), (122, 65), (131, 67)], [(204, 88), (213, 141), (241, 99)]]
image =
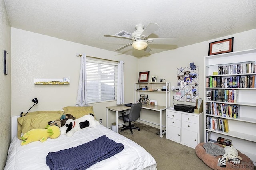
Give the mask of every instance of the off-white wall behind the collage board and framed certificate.
[[(204, 56), (208, 55), (209, 43), (234, 37), (233, 51), (242, 51), (256, 48), (256, 29), (245, 31), (218, 39), (212, 39), (185, 47), (180, 47), (174, 50), (165, 51), (162, 53), (151, 55), (150, 57), (142, 57), (139, 59), (139, 72), (150, 70), (150, 76), (156, 75), (159, 78), (165, 78), (167, 82), (171, 82), (171, 86), (177, 86), (176, 69), (184, 66), (189, 66), (189, 63), (194, 62), (199, 66), (199, 96), (204, 98)], [(161, 69), (162, 68), (162, 69)], [(173, 93), (171, 93), (172, 95)], [(175, 104), (191, 104), (187, 102), (177, 102)], [(172, 105), (172, 103), (171, 103)], [(142, 110), (142, 113), (144, 110)], [(148, 111), (147, 111), (148, 113)], [(143, 119), (148, 119), (149, 114), (141, 114)], [(150, 121), (158, 120), (158, 115), (152, 113)], [(165, 116), (163, 114), (163, 122), (165, 124)]]

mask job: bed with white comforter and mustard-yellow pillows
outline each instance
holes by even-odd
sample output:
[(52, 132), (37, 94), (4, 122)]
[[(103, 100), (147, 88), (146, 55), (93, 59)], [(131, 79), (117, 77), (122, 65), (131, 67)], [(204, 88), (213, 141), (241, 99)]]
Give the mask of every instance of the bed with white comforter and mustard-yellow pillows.
[[(86, 107), (86, 109), (88, 109), (88, 107)], [(91, 111), (87, 111), (87, 113), (93, 112), (92, 107), (90, 107), (90, 109)], [(71, 113), (68, 110), (65, 112), (65, 109), (63, 113), (70, 113), (73, 116), (75, 115), (74, 117), (79, 117), (79, 114), (76, 114), (75, 112)], [(119, 153), (92, 164), (92, 166), (88, 167), (87, 170), (156, 170), (155, 159), (144, 148), (101, 124), (94, 128), (77, 131), (72, 137), (60, 135), (56, 139), (48, 138), (45, 142), (36, 141), (27, 145), (20, 145), (22, 140), (18, 139), (18, 136), (20, 135), (19, 133), (24, 133), (24, 131), (27, 131), (27, 127), (25, 128), (25, 126), (28, 125), (28, 127), (33, 129), (34, 127), (43, 125), (45, 121), (48, 122), (49, 119), (54, 119), (54, 116), (58, 117), (59, 115), (56, 114), (63, 113), (62, 111), (58, 111), (58, 113), (56, 113), (56, 111), (53, 113), (46, 113), (42, 111), (41, 113), (37, 112), (35, 114), (28, 114), (18, 118), (18, 121), (13, 121), (14, 123), (12, 123), (12, 127), (18, 127), (18, 131), (17, 135), (13, 135), (14, 137), (8, 150), (4, 170), (49, 170), (50, 168), (46, 164), (46, 156), (48, 156), (50, 152), (58, 152), (87, 143), (92, 143), (96, 139), (103, 136), (106, 136), (108, 139), (113, 140), (116, 143), (123, 144), (124, 147)], [(83, 111), (80, 111), (80, 113), (80, 116), (85, 114)], [(31, 117), (40, 119), (40, 122), (32, 119)], [(44, 119), (43, 121), (42, 117)], [(36, 125), (34, 125), (35, 123)], [(22, 132), (20, 132), (20, 130)]]

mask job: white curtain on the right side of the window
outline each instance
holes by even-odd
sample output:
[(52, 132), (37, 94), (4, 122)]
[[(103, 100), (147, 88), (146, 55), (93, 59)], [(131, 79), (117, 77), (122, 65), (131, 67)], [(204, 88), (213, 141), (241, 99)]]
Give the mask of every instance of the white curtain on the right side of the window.
[(124, 62), (123, 61), (119, 61), (118, 63), (116, 104), (124, 104)]

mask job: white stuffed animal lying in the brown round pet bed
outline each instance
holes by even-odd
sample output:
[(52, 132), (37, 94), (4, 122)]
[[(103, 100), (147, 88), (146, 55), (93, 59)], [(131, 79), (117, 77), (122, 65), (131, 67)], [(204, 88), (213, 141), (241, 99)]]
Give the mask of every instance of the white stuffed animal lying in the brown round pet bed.
[(224, 148), (225, 154), (222, 158), (226, 158), (226, 161), (230, 160), (233, 164), (240, 164), (240, 160), (243, 158), (238, 155), (238, 152), (234, 146), (226, 146)]

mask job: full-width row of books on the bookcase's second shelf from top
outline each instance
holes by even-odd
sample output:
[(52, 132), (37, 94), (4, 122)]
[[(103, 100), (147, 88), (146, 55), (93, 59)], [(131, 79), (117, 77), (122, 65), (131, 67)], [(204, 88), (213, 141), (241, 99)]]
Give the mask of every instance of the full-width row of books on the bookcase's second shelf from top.
[(255, 76), (206, 77), (206, 87), (217, 88), (256, 88)]

